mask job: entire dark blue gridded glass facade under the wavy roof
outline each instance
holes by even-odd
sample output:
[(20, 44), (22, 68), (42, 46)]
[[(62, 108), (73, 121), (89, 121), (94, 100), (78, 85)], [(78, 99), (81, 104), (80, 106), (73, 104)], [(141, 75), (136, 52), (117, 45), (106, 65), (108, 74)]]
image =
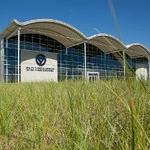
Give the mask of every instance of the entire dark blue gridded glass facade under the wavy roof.
[[(8, 40), (5, 40), (4, 43), (4, 82), (17, 82), (18, 37), (13, 36)], [(20, 53), (22, 50), (56, 53), (59, 81), (66, 79), (85, 78), (84, 44), (80, 44), (71, 48), (65, 48), (65, 46), (60, 42), (45, 35), (21, 34)], [(126, 72), (126, 76), (134, 75), (137, 63), (145, 64), (148, 69), (148, 60), (146, 58), (131, 59), (127, 54), (125, 57), (126, 66), (132, 72)], [(86, 44), (87, 74), (96, 72), (99, 74), (100, 79), (109, 79), (112, 77), (120, 78), (124, 76), (123, 64), (123, 52), (106, 54), (103, 52), (103, 50), (95, 47), (94, 45), (88, 43)]]

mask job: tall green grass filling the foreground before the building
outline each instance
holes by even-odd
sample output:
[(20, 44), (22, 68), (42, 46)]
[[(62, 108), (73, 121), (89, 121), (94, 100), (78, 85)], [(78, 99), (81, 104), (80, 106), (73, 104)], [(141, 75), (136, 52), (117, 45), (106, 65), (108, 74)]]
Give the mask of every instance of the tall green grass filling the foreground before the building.
[(145, 86), (134, 80), (0, 85), (0, 149), (149, 149)]

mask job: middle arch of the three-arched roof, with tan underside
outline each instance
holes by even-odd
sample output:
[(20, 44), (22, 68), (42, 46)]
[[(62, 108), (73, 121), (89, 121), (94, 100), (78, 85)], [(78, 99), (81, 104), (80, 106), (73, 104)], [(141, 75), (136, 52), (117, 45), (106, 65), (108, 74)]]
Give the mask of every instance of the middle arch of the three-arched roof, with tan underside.
[(113, 53), (126, 49), (124, 43), (122, 43), (118, 38), (105, 33), (89, 37), (88, 42), (97, 46), (106, 53)]

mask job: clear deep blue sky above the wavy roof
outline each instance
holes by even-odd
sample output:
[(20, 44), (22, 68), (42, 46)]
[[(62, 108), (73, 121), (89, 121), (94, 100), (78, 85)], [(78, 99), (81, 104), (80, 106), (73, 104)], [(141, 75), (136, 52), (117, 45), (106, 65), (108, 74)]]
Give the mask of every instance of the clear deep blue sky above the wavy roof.
[(75, 26), (87, 36), (103, 32), (121, 38), (125, 44), (139, 42), (150, 48), (150, 0), (112, 1), (117, 19), (108, 0), (3, 0), (0, 31), (14, 18), (52, 18)]

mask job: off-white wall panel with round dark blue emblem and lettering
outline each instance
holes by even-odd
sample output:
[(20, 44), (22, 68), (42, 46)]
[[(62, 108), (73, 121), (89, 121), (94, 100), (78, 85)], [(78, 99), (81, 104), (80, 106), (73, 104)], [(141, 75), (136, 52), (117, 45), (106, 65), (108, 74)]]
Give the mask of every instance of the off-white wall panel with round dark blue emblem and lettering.
[(21, 81), (57, 81), (57, 54), (21, 51)]

